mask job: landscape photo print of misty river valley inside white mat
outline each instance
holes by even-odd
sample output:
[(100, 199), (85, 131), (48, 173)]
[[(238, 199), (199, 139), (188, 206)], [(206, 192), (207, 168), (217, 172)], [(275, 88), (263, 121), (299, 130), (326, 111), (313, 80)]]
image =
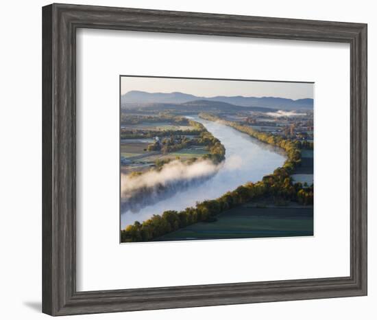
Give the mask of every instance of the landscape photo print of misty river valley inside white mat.
[(313, 236), (313, 83), (120, 81), (121, 242)]

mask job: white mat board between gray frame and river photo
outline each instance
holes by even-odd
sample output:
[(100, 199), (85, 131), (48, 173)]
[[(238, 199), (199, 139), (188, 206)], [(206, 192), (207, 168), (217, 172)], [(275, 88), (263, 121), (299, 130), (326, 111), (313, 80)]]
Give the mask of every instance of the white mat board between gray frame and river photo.
[[(350, 275), (349, 45), (87, 29), (76, 43), (77, 290)], [(315, 82), (315, 236), (119, 245), (119, 73)], [(332, 181), (341, 202), (328, 202)]]

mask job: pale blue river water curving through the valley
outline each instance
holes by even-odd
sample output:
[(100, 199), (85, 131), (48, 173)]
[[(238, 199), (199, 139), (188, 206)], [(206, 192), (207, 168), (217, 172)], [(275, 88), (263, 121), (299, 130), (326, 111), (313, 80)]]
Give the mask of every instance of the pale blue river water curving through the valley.
[(169, 198), (163, 198), (154, 205), (143, 207), (139, 212), (122, 212), (122, 229), (136, 220), (143, 222), (154, 214), (162, 214), (167, 210), (180, 211), (186, 207), (193, 207), (197, 201), (215, 199), (236, 189), (239, 185), (249, 181), (260, 181), (263, 176), (282, 166), (286, 159), (280, 148), (263, 144), (230, 126), (199, 117), (189, 118), (202, 123), (212, 135), (221, 141), (226, 148), (225, 161), (210, 179), (193, 183)]

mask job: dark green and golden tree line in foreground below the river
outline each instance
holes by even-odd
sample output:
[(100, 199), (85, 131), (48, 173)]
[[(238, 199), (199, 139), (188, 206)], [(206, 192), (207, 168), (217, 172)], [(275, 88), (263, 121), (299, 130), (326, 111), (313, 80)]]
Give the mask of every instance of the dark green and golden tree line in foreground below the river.
[(121, 241), (154, 240), (197, 222), (214, 221), (221, 212), (266, 196), (278, 196), (304, 205), (313, 204), (313, 186), (303, 188), (301, 183), (293, 184), (288, 171), (287, 168), (278, 168), (273, 174), (265, 176), (262, 181), (241, 185), (215, 200), (202, 201), (195, 207), (180, 212), (168, 210), (161, 216), (154, 215), (142, 223), (136, 221), (121, 231)]

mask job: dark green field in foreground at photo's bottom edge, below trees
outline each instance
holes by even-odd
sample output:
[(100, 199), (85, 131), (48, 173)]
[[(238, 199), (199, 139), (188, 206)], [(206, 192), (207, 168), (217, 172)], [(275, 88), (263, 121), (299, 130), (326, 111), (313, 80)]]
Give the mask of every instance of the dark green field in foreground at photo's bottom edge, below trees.
[(156, 241), (293, 236), (313, 236), (313, 206), (243, 205), (219, 214), (215, 222), (198, 222)]

